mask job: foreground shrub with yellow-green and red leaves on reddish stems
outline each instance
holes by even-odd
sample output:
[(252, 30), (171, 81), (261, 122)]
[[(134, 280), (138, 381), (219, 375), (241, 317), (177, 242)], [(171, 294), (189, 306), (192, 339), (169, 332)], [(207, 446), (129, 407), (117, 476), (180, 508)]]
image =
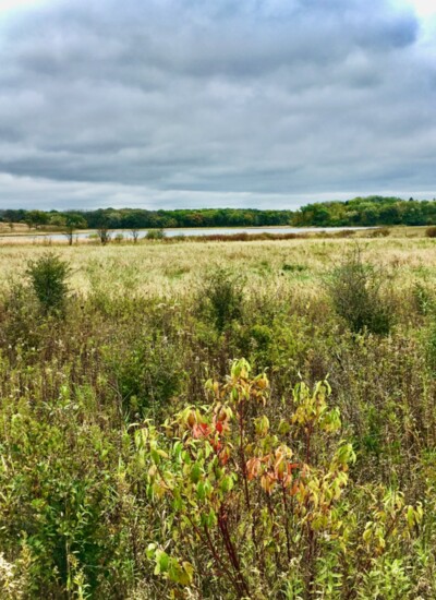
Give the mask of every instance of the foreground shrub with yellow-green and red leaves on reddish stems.
[[(243, 359), (226, 384), (206, 386), (207, 408), (186, 406), (161, 432), (145, 423), (135, 433), (146, 494), (171, 523), (155, 529), (147, 552), (171, 597), (181, 588), (241, 600), (351, 598), (362, 583), (373, 590), (385, 563), (401, 563), (423, 509), (399, 491), (353, 483), (355, 454), (328, 383), (298, 384), (282, 418), (267, 416), (268, 380), (251, 376)], [(405, 572), (400, 579), (410, 587)], [(388, 580), (380, 574), (377, 584)]]

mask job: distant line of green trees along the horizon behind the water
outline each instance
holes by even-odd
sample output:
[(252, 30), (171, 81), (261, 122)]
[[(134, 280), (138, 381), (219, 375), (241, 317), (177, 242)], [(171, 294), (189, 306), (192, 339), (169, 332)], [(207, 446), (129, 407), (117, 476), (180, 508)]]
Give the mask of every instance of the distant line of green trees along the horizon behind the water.
[(180, 227), (372, 227), (389, 225), (436, 225), (436, 200), (367, 196), (346, 202), (307, 204), (292, 211), (254, 208), (203, 208), (146, 211), (99, 208), (97, 211), (1, 209), (3, 223), (25, 223), (38, 229), (167, 229)]

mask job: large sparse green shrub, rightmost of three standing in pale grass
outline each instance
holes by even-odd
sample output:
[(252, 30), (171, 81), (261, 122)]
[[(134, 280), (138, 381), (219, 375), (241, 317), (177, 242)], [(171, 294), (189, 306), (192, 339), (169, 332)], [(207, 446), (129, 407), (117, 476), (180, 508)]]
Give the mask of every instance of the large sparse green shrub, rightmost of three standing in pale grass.
[(393, 311), (389, 299), (382, 296), (384, 284), (382, 273), (362, 261), (359, 248), (332, 272), (327, 284), (330, 298), (352, 332), (389, 333)]

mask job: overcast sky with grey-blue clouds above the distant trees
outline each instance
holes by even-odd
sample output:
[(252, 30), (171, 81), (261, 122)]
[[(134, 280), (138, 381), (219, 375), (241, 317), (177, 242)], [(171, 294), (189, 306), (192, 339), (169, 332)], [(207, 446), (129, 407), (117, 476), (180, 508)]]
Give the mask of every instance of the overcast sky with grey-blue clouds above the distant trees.
[(436, 0), (0, 0), (0, 208), (436, 196)]

